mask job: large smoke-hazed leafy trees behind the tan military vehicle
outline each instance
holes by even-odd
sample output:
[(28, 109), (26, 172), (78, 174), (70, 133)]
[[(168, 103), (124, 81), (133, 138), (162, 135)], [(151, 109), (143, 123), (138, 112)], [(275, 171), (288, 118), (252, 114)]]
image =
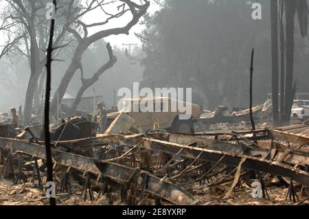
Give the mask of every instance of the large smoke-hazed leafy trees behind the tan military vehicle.
[[(251, 18), (253, 2), (161, 1), (161, 10), (145, 16), (146, 28), (138, 34), (146, 53), (141, 62), (144, 85), (192, 87), (194, 101), (211, 110), (218, 104), (247, 107), (250, 51), (255, 47), (253, 103), (271, 97), (270, 1), (259, 1), (262, 20)], [(296, 32), (292, 65), (297, 89), (308, 92), (308, 39), (297, 34), (299, 23), (290, 28)]]

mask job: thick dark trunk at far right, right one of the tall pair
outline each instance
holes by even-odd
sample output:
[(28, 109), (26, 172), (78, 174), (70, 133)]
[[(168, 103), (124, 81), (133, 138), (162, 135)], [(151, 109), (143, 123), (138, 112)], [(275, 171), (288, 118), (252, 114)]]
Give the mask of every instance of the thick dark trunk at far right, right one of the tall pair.
[(294, 67), (294, 27), (296, 1), (285, 1), (286, 11), (286, 88), (284, 98), (284, 114), (286, 122), (290, 121), (293, 100), (293, 67)]

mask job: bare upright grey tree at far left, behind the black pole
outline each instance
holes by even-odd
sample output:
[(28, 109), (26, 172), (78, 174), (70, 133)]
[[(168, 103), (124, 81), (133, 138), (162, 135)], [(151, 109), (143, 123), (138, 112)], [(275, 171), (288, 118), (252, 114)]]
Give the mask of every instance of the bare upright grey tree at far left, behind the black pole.
[[(15, 53), (27, 56), (30, 65), (30, 80), (25, 95), (23, 124), (31, 124), (32, 104), (36, 92), (38, 78), (46, 63), (44, 50), (49, 37), (49, 25), (45, 17), (45, 6), (49, 1), (5, 1), (1, 29), (8, 34), (9, 40), (2, 54)], [(58, 25), (55, 27), (54, 45), (71, 42), (74, 39), (67, 33), (72, 14), (78, 10), (74, 1), (60, 1), (61, 10), (58, 12)], [(61, 21), (61, 22), (60, 22)], [(3, 56), (2, 55), (2, 56)], [(42, 77), (43, 78), (43, 77)], [(41, 80), (42, 86), (43, 80)]]

